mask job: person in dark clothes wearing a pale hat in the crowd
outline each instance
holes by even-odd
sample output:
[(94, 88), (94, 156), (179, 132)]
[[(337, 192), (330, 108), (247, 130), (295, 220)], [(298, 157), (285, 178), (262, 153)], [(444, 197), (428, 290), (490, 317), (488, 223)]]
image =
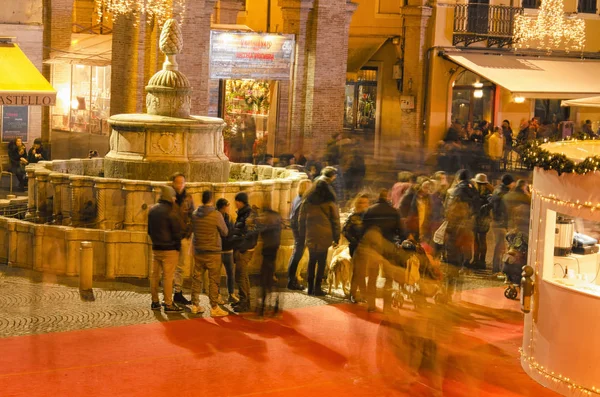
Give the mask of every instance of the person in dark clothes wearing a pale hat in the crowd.
[(473, 229), (474, 245), (473, 245), (473, 269), (485, 269), (487, 267), (485, 258), (487, 256), (487, 234), (490, 231), (492, 223), (491, 205), (493, 188), (488, 182), (487, 175), (477, 174), (473, 179), (475, 188), (477, 189), (479, 199), (475, 208), (475, 225)]

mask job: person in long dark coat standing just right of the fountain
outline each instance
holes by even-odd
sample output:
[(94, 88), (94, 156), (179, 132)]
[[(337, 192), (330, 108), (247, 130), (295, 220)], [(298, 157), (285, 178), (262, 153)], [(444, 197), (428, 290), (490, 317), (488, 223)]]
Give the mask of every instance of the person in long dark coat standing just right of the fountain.
[(337, 246), (340, 239), (340, 214), (335, 195), (324, 180), (318, 180), (305, 194), (300, 207), (298, 231), (305, 238), (309, 252), (308, 294), (324, 296), (321, 282), (327, 265), (327, 250), (332, 244)]

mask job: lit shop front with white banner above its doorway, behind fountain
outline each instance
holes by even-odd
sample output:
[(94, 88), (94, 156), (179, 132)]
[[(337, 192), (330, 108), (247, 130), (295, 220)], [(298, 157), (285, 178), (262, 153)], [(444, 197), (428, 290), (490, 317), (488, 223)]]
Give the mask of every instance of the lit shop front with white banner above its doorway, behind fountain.
[(210, 77), (220, 82), (218, 115), (232, 161), (260, 161), (272, 147), (278, 82), (290, 80), (294, 46), (293, 35), (211, 32)]

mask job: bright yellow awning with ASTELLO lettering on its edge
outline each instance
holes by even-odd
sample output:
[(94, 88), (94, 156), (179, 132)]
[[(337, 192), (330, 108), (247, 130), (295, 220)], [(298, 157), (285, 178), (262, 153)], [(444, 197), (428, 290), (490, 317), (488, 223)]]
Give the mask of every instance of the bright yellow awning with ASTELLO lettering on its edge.
[(0, 43), (0, 105), (54, 105), (56, 91), (14, 43)]

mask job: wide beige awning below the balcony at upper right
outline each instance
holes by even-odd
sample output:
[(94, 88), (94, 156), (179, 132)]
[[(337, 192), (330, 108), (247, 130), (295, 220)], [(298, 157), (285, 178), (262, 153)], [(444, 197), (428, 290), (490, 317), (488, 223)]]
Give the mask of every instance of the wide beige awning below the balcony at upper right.
[(461, 51), (445, 56), (516, 96), (572, 99), (600, 94), (600, 60)]

